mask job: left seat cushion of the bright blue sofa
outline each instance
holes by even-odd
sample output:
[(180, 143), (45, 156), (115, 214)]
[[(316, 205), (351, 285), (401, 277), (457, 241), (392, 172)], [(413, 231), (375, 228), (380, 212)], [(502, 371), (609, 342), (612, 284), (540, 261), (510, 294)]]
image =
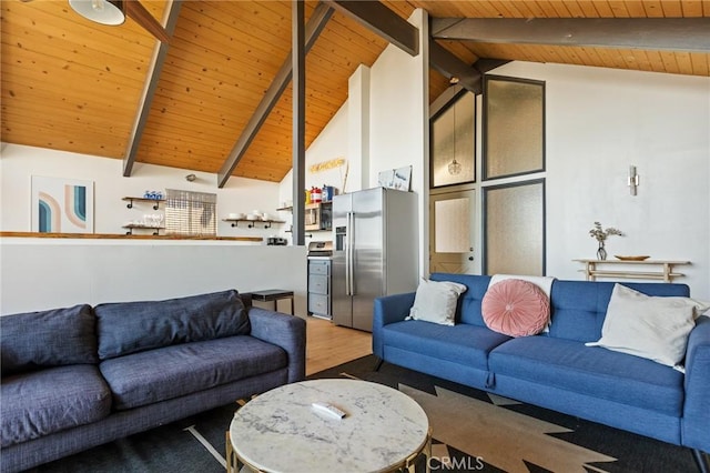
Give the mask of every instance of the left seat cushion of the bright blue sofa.
[(488, 370), (490, 350), (510, 340), (508, 335), (485, 326), (452, 326), (417, 320), (387, 324), (382, 329), (382, 338), (385, 346), (423, 353), (479, 370)]

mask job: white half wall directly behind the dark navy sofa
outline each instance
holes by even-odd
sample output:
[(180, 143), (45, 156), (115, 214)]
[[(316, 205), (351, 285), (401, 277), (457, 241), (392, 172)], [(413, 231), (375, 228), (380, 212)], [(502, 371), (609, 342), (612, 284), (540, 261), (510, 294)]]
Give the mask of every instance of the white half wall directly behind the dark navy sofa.
[[(0, 242), (0, 313), (79, 303), (161, 300), (236, 289), (293, 290), (305, 315), (303, 246), (229, 242), (8, 238)], [(264, 305), (273, 308), (273, 303)], [(287, 301), (278, 305), (288, 313)]]

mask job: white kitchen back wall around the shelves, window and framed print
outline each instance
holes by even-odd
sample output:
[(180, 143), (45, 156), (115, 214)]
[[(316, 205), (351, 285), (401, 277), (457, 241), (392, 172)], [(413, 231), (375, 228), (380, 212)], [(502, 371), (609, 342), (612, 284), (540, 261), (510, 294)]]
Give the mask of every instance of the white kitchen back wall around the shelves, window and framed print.
[[(94, 182), (94, 233), (124, 233), (121, 225), (131, 220), (142, 220), (143, 214), (155, 213), (146, 204), (126, 208), (123, 197), (142, 197), (146, 190), (184, 189), (217, 194), (217, 235), (268, 236), (271, 230), (232, 228), (222, 219), (231, 212), (261, 210), (276, 214), (280, 204), (278, 184), (254, 179), (231, 178), (223, 189), (216, 187), (216, 174), (135, 163), (133, 174), (123, 178), (123, 161), (109, 158), (54, 151), (19, 144), (2, 145), (0, 158), (0, 230), (28, 232), (31, 229), (31, 178), (43, 175), (71, 178)], [(185, 175), (197, 179), (187, 182)]]

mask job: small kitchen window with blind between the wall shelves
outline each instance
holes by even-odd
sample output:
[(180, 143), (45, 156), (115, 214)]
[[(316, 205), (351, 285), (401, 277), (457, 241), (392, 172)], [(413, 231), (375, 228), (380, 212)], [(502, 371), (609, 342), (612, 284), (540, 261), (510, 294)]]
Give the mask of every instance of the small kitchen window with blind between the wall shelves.
[(206, 192), (165, 190), (165, 233), (190, 236), (217, 234), (217, 195)]

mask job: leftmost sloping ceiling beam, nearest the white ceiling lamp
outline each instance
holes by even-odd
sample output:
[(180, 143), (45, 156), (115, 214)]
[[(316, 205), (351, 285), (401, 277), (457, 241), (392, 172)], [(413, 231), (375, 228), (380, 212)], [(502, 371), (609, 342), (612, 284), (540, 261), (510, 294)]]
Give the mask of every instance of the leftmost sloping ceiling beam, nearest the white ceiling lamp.
[[(181, 3), (182, 0), (172, 0), (168, 7), (170, 11), (168, 12), (168, 18), (165, 20), (165, 32), (170, 37), (172, 37), (175, 31)], [(141, 144), (141, 137), (143, 135), (145, 123), (148, 122), (148, 115), (150, 114), (153, 98), (158, 90), (158, 81), (160, 80), (160, 73), (163, 69), (163, 64), (165, 63), (165, 59), (168, 58), (169, 48), (170, 44), (166, 41), (159, 41), (156, 44), (156, 51), (149, 72), (149, 79), (143, 88), (143, 95), (139, 104), (139, 111), (135, 117), (135, 121), (133, 122), (131, 135), (129, 137), (125, 155), (123, 157), (124, 178), (131, 177), (131, 173), (133, 172), (133, 164), (135, 163), (135, 157), (138, 155), (138, 148)]]

